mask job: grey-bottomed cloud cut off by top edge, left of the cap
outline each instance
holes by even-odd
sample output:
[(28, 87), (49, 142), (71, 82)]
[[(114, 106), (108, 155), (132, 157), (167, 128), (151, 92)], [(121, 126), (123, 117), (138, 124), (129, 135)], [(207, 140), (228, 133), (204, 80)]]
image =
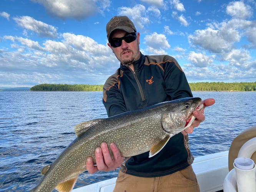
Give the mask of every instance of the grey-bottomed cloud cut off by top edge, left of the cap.
[(32, 0), (40, 3), (47, 11), (62, 19), (81, 20), (110, 7), (110, 0)]

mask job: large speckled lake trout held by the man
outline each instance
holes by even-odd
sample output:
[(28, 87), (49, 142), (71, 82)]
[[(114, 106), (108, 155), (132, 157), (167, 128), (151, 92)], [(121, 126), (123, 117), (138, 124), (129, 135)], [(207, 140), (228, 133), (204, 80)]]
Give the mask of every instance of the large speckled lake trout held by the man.
[(147, 151), (153, 157), (172, 136), (189, 127), (195, 119), (193, 111), (202, 108), (200, 98), (183, 98), (78, 124), (77, 138), (42, 170), (44, 176), (32, 191), (71, 191), (78, 175), (86, 170), (87, 157), (95, 162), (95, 148), (102, 142), (114, 142), (125, 157)]

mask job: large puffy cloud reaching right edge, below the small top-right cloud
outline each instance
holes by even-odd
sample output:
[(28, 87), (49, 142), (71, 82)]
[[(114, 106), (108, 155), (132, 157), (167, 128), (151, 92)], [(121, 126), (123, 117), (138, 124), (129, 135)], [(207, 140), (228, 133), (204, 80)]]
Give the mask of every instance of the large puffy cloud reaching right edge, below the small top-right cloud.
[(226, 53), (236, 48), (243, 36), (249, 43), (248, 48), (256, 47), (256, 22), (233, 18), (221, 23), (211, 23), (204, 30), (196, 30), (188, 39), (192, 46), (206, 49), (213, 53)]

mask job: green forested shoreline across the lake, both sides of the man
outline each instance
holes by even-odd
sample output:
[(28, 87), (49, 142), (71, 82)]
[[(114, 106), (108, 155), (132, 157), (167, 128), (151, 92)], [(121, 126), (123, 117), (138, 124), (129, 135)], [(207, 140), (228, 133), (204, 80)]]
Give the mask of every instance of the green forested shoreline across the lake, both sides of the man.
[[(256, 91), (256, 81), (252, 83), (198, 82), (189, 83), (192, 91)], [(103, 85), (90, 84), (38, 84), (30, 91), (102, 91)]]

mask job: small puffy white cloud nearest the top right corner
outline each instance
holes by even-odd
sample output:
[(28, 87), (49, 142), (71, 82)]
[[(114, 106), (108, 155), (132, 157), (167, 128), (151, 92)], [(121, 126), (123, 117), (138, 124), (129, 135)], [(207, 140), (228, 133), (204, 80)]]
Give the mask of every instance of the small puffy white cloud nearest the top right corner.
[(242, 1), (230, 2), (226, 8), (226, 13), (234, 18), (249, 18), (253, 15), (253, 9), (245, 5)]

